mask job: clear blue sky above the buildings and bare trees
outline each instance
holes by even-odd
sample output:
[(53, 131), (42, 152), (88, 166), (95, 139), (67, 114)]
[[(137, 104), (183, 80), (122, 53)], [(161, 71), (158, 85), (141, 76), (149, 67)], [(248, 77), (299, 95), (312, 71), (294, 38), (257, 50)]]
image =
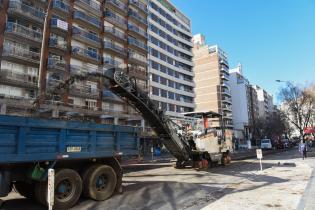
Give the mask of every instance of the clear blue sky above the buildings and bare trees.
[(315, 0), (171, 0), (193, 34), (218, 44), (249, 81), (275, 96), (276, 79), (315, 81)]

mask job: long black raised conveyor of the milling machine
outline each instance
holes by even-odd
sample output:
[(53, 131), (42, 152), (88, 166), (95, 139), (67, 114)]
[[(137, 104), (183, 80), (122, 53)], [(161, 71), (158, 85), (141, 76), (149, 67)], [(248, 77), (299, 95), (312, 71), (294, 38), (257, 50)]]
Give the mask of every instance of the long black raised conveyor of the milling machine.
[(186, 161), (190, 158), (188, 144), (177, 135), (172, 122), (158, 109), (149, 96), (138, 88), (135, 81), (129, 78), (123, 70), (109, 69), (103, 76), (110, 81), (110, 90), (138, 110), (143, 118), (150, 124), (152, 129), (160, 137), (167, 150), (178, 161)]

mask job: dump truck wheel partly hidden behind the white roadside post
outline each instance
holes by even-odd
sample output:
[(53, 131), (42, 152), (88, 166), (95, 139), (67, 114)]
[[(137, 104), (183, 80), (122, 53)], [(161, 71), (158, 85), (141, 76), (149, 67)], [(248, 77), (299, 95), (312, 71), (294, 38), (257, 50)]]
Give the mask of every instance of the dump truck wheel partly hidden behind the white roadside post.
[[(59, 169), (55, 175), (54, 209), (70, 209), (79, 200), (82, 193), (82, 179), (72, 169)], [(35, 196), (39, 203), (47, 205), (47, 182), (38, 182)]]

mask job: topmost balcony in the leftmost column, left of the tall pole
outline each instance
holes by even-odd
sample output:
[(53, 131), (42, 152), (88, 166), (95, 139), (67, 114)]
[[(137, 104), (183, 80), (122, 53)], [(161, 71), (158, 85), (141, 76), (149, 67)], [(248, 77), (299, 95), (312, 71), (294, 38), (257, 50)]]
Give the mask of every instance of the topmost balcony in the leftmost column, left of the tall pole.
[(18, 0), (9, 2), (8, 13), (16, 15), (18, 18), (27, 18), (35, 23), (44, 23), (45, 13), (35, 7), (21, 3)]

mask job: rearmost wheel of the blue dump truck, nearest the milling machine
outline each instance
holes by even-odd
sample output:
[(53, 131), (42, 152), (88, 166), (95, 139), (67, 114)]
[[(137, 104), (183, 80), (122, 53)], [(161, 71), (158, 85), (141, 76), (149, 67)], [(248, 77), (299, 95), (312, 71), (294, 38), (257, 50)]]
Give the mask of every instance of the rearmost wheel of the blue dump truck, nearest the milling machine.
[(84, 196), (96, 201), (111, 197), (117, 184), (114, 169), (107, 165), (93, 165), (82, 176)]

